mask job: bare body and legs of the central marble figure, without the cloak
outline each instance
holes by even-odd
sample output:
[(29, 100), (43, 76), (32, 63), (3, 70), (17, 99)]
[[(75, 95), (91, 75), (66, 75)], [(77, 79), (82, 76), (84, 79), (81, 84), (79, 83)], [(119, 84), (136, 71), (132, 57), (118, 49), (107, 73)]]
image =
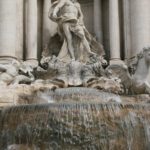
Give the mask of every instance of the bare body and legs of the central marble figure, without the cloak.
[(75, 60), (73, 34), (81, 39), (81, 43), (88, 54), (90, 56), (94, 55), (95, 53), (91, 51), (85, 36), (83, 14), (80, 4), (76, 0), (59, 0), (54, 3), (56, 3), (56, 6), (50, 14), (50, 18), (57, 22), (63, 29), (71, 59)]

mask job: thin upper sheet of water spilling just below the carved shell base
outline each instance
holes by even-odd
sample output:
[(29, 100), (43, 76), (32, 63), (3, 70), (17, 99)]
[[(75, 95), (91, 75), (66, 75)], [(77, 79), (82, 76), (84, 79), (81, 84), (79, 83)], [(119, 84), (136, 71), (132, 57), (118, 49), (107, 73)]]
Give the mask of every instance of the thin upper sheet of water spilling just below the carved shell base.
[(34, 97), (48, 103), (70, 102), (70, 100), (74, 102), (121, 102), (119, 95), (83, 87), (62, 88), (55, 91), (46, 89), (37, 91)]

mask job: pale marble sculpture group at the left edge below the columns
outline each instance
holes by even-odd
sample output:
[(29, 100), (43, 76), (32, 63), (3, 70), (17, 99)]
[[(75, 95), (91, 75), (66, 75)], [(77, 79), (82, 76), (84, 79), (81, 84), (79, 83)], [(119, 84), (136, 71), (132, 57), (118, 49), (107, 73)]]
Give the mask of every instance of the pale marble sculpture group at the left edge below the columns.
[(12, 61), (10, 64), (0, 64), (0, 84), (20, 84), (34, 81), (33, 68), (25, 62)]

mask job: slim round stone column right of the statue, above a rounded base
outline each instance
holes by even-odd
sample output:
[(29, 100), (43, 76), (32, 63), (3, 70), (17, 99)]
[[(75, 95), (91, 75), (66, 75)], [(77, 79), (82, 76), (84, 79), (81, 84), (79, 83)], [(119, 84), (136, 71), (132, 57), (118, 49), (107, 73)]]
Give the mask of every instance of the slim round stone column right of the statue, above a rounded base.
[(120, 60), (120, 29), (118, 0), (109, 0), (109, 32), (111, 63)]

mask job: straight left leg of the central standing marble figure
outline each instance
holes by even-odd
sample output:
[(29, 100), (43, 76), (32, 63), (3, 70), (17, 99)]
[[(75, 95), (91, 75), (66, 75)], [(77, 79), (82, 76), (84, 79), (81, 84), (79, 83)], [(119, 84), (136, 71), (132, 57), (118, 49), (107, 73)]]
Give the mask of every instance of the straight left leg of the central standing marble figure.
[(64, 30), (65, 38), (67, 40), (69, 53), (70, 53), (72, 60), (75, 60), (74, 48), (73, 48), (73, 43), (72, 43), (72, 34), (70, 32), (69, 26), (70, 26), (69, 23), (63, 23), (63, 30)]

